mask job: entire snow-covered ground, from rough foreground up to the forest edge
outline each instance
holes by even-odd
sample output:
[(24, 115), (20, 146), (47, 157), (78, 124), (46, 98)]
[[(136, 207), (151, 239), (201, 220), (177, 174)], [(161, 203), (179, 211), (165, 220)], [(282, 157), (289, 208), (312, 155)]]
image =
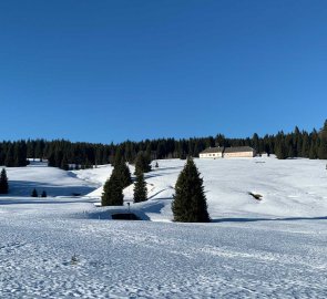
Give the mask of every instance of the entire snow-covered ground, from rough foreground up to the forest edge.
[[(213, 221), (175, 224), (184, 163), (159, 161), (146, 174), (149, 202), (133, 204), (133, 187), (124, 190), (131, 210), (152, 221), (110, 220), (127, 206), (94, 206), (110, 165), (8, 168), (0, 298), (327, 297), (326, 161), (195, 159)], [(51, 197), (29, 197), (34, 187)]]

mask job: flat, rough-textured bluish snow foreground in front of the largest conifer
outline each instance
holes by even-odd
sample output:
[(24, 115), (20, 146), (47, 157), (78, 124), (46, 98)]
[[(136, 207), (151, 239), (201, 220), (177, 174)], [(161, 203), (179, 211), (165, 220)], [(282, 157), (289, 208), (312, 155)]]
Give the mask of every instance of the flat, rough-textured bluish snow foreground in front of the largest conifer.
[(1, 298), (327, 296), (326, 219), (109, 221), (83, 218), (82, 199), (12, 200), (0, 214)]

